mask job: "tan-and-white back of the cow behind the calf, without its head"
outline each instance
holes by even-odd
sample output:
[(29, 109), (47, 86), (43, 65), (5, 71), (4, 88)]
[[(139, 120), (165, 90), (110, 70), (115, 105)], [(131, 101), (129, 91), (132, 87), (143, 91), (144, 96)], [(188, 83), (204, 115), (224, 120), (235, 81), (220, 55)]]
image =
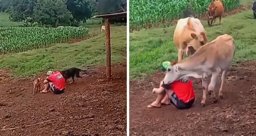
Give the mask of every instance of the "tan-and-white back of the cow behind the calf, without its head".
[(194, 33), (198, 34), (204, 32), (204, 27), (199, 19), (187, 17), (178, 20), (173, 34), (173, 42), (176, 47), (179, 48), (181, 38), (182, 41), (188, 41), (191, 39), (191, 29)]

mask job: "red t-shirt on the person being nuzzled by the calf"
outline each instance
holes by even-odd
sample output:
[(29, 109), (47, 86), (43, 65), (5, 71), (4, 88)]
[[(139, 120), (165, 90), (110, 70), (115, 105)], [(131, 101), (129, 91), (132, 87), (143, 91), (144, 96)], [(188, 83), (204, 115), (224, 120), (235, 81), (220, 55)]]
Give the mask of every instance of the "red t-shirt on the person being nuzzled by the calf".
[(192, 81), (188, 77), (171, 83), (170, 89), (174, 91), (179, 100), (182, 100), (185, 103), (189, 102), (196, 96), (193, 89)]

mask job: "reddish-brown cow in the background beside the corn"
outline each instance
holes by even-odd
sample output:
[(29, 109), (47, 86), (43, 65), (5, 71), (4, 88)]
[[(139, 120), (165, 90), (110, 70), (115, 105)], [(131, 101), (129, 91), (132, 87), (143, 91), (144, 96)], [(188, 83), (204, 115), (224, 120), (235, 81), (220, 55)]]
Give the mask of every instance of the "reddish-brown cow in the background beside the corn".
[[(211, 2), (208, 7), (208, 15), (209, 15), (208, 21), (207, 21), (208, 25), (211, 26), (212, 24), (214, 24), (217, 17), (219, 17), (221, 21), (221, 15), (223, 13), (224, 13), (224, 5), (221, 1)], [(211, 24), (210, 24), (210, 21), (211, 21)]]

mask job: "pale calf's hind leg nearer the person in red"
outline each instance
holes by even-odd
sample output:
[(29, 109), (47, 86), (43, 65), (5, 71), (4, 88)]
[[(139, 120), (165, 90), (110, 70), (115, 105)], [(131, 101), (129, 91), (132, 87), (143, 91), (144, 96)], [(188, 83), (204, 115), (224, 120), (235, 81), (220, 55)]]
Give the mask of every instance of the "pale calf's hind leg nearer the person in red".
[(215, 89), (216, 83), (218, 81), (219, 73), (220, 72), (212, 73), (211, 82), (208, 86), (208, 90), (209, 90), (209, 92), (211, 92), (211, 97), (212, 97), (214, 103), (218, 102), (218, 99), (216, 98), (214, 89)]

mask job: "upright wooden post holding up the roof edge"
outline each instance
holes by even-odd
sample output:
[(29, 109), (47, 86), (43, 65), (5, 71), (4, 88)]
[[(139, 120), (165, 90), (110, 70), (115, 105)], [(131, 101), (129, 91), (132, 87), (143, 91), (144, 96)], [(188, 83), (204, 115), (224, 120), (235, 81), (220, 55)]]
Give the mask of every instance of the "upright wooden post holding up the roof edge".
[(105, 19), (105, 35), (106, 35), (106, 76), (107, 80), (111, 79), (111, 46), (110, 46), (110, 24), (108, 19)]

